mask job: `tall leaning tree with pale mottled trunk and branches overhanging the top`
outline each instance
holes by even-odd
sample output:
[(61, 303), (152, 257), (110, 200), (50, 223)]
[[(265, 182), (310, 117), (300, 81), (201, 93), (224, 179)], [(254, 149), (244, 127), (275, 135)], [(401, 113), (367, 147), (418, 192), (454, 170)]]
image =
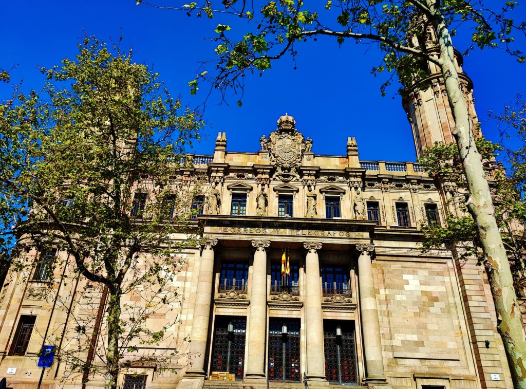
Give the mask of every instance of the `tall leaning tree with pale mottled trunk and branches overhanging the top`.
[[(137, 4), (140, 3), (146, 2), (137, 0)], [(422, 60), (439, 66), (456, 123), (453, 136), (467, 179), (470, 194), (468, 211), (476, 222), (485, 258), (492, 267), (490, 284), (501, 318), (498, 329), (513, 366), (511, 371), (515, 386), (526, 388), (526, 367), (522, 362), (526, 353), (526, 336), (518, 315), (514, 315), (517, 299), (512, 293), (513, 277), (495, 220), (480, 153), (474, 142), (468, 107), (461, 93), (451, 39), (457, 24), (462, 28), (471, 27), (473, 43), (470, 49), (474, 46), (500, 46), (516, 56), (519, 62), (525, 62), (524, 54), (513, 48), (512, 34), (514, 31), (524, 34), (526, 24), (515, 24), (513, 19), (507, 17), (508, 11), (518, 3), (505, 2), (498, 12), (485, 8), (481, 2), (465, 0), (328, 0), (325, 7), (313, 8), (295, 0), (258, 4), (246, 0), (225, 0), (221, 4), (224, 8), (220, 10), (216, 10), (210, 0), (205, 0), (202, 5), (192, 2), (183, 6), (189, 15), (196, 13), (197, 16), (206, 15), (209, 18), (215, 17), (218, 12), (221, 12), (220, 15), (225, 12), (237, 15), (248, 21), (249, 29), (236, 41), (229, 38), (229, 25), (217, 25), (217, 67), (211, 73), (207, 70), (201, 72), (189, 83), (192, 93), (196, 93), (198, 85), (207, 79), (222, 92), (227, 88), (242, 91), (246, 74), (258, 72), (262, 75), (270, 68), (272, 61), (287, 54), (294, 57), (298, 45), (320, 36), (336, 38), (340, 44), (346, 39), (378, 43), (383, 59), (373, 72), (396, 71), (402, 85), (410, 85), (415, 79), (425, 76)], [(257, 14), (259, 10), (260, 14)], [(426, 42), (428, 26), (437, 35), (436, 45), (429, 47), (418, 43)], [(241, 101), (238, 104), (241, 105)]]

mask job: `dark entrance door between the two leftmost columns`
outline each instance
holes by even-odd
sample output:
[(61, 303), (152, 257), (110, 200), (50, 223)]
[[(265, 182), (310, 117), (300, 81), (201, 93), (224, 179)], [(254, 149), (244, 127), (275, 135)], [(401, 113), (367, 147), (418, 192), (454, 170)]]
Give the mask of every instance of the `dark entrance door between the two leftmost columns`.
[[(230, 322), (234, 325), (231, 334), (228, 333)], [(243, 380), (246, 330), (246, 317), (216, 316), (211, 371), (235, 374), (236, 381)]]

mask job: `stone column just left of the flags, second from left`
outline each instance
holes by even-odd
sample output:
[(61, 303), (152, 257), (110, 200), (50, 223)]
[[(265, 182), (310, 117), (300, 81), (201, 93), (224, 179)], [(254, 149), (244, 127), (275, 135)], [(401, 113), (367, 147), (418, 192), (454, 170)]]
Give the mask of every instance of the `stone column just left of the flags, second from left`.
[(267, 338), (267, 252), (270, 241), (252, 241), (256, 247), (252, 263), (250, 313), (248, 315), (247, 379), (265, 379), (265, 340)]

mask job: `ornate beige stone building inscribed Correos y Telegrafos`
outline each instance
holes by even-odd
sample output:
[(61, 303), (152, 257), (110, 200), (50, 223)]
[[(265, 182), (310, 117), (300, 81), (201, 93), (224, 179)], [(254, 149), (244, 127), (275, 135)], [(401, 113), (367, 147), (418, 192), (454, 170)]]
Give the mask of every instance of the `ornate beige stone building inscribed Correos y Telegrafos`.
[[(452, 141), (447, 98), (437, 69), (430, 72), (432, 88), (414, 86), (403, 103), (418, 155), (434, 141)], [(157, 348), (176, 344), (189, 358), (170, 365), (177, 374), (133, 367), (121, 387), (223, 387), (216, 378), (239, 382), (229, 387), (267, 387), (267, 380), (275, 388), (304, 381), (310, 389), (512, 387), (484, 268), (446, 249), (422, 255), (418, 248), (422, 224), (460, 213), (452, 184), (416, 163), (361, 161), (354, 137), (345, 155), (317, 155), (287, 114), (260, 143), (256, 153), (229, 152), (219, 133), (214, 155), (194, 156), (179, 173), (206, 177), (193, 205), (206, 243), (181, 253), (179, 320), (171, 343)], [(54, 334), (75, 347), (74, 335), (65, 339), (69, 327), (96, 339), (100, 321), (73, 322), (69, 312), (100, 317), (105, 296), (97, 288), (79, 296), (78, 285), (60, 283), (56, 294), (70, 296), (68, 310), (43, 298), (42, 277), (20, 280), (0, 296), (0, 370), (10, 386), (29, 388), (41, 372), (43, 338)], [(59, 382), (67, 368), (56, 362), (44, 385), (80, 387), (80, 378)], [(86, 387), (100, 385), (95, 377)]]

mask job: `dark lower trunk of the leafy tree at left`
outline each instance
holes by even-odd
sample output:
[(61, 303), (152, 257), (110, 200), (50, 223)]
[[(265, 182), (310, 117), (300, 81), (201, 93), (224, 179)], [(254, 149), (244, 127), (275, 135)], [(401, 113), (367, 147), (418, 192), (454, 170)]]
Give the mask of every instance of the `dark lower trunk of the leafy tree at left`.
[(105, 376), (104, 387), (106, 389), (117, 389), (117, 378), (119, 375), (119, 334), (120, 334), (120, 288), (113, 290), (109, 288), (110, 295), (108, 301), (108, 372)]

